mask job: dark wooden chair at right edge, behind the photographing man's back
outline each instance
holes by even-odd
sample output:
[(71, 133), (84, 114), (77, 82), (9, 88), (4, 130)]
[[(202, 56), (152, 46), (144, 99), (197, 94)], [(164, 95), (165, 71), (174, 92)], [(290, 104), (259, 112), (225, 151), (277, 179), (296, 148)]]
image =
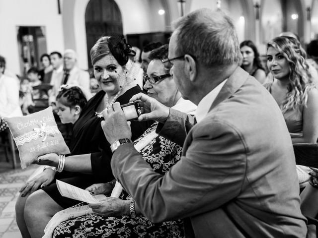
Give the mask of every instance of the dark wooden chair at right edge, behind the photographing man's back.
[[(293, 147), (297, 165), (318, 168), (318, 144), (298, 143), (293, 144)], [(318, 237), (318, 220), (307, 216), (306, 218), (308, 220), (308, 225), (316, 226), (316, 236)]]

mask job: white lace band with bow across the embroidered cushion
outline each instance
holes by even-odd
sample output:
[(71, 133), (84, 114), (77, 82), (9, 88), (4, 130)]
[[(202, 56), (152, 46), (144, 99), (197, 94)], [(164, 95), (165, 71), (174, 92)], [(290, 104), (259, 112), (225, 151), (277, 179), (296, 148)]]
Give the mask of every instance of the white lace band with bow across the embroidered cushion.
[(43, 123), (39, 128), (34, 128), (33, 131), (27, 132), (13, 139), (15, 141), (15, 144), (18, 146), (23, 145), (26, 142), (29, 143), (31, 142), (31, 140), (36, 140), (39, 137), (42, 137), (42, 141), (45, 141), (48, 135), (54, 134), (61, 134), (58, 127), (56, 125), (46, 126), (46, 124)]

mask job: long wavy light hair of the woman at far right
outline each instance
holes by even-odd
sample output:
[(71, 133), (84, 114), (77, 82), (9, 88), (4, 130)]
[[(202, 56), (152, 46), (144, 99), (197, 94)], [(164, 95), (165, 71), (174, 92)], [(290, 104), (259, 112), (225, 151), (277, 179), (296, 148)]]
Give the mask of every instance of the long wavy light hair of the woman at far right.
[(282, 105), (282, 112), (295, 109), (297, 106), (306, 106), (308, 92), (316, 87), (312, 81), (312, 75), (308, 71), (306, 52), (295, 38), (280, 36), (267, 43), (275, 48), (288, 61), (289, 83), (287, 86), (286, 100)]

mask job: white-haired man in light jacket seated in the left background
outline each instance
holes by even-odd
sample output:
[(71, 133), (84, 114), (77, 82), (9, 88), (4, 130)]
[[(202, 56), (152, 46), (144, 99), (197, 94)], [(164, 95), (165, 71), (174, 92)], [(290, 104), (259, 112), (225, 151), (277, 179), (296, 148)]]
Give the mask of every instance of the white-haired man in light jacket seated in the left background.
[(75, 84), (89, 91), (89, 73), (81, 70), (77, 65), (77, 55), (68, 49), (64, 53), (64, 77), (62, 84)]

